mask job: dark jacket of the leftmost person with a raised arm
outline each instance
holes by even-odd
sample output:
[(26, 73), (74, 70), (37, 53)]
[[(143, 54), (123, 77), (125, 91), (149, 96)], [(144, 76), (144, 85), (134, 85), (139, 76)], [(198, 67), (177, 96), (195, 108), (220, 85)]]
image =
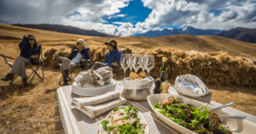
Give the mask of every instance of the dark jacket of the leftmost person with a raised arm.
[(35, 41), (33, 47), (28, 42), (28, 37), (23, 37), (23, 40), (19, 44), (20, 57), (29, 59), (32, 55), (38, 55), (41, 53), (41, 46), (38, 47), (37, 41)]

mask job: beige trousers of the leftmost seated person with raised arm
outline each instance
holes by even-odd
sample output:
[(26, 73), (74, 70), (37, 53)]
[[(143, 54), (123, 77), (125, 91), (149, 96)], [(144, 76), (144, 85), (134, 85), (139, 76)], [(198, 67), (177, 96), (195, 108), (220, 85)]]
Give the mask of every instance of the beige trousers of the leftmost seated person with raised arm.
[(29, 64), (28, 59), (25, 59), (23, 57), (17, 57), (10, 73), (20, 75), (22, 79), (27, 78), (26, 64)]

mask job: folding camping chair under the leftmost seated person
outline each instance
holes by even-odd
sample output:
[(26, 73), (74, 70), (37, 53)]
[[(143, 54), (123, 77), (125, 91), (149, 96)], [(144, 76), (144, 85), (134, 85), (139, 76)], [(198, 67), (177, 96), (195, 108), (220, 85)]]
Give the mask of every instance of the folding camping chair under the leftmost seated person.
[[(41, 45), (39, 47), (40, 47), (40, 53), (38, 53), (38, 55), (36, 55), (36, 58), (32, 58), (33, 56), (35, 56), (35, 55), (32, 55), (28, 59), (29, 61), (33, 61), (33, 64), (31, 62), (28, 62), (26, 64), (26, 69), (30, 68), (32, 70), (32, 73), (30, 75), (28, 75), (28, 77), (27, 77), (27, 79), (29, 79), (30, 76), (32, 76), (32, 79), (31, 79), (31, 81), (28, 82), (28, 84), (31, 84), (31, 82), (34, 79), (35, 75), (38, 75), (38, 70), (39, 70), (40, 67), (42, 68), (42, 77), (40, 75), (38, 75), (38, 78), (40, 78), (42, 81), (44, 81), (44, 59), (43, 59), (43, 56), (42, 56), (42, 47), (41, 47)], [(3, 55), (3, 54), (0, 54), (0, 56), (2, 56), (3, 59), (5, 60), (5, 64), (9, 64), (9, 66), (11, 68), (13, 67), (13, 63), (9, 63), (7, 61), (7, 59), (14, 59), (14, 58), (11, 58), (11, 57)], [(16, 80), (16, 78), (18, 76), (19, 76), (18, 74), (15, 74), (14, 79), (12, 81), (10, 81), (9, 84), (12, 85), (13, 82)]]

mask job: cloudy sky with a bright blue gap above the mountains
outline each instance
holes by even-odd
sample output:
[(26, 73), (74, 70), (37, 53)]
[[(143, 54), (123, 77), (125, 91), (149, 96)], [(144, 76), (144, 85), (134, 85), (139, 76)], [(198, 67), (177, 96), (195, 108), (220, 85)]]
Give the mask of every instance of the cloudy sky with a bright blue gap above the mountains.
[(256, 0), (0, 0), (0, 23), (72, 25), (115, 36), (183, 25), (256, 28)]

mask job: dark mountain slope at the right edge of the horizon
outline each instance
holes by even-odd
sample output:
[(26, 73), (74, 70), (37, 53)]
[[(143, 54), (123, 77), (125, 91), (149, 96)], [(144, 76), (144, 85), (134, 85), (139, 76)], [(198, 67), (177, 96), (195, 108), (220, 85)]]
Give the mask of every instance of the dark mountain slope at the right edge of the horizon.
[(243, 42), (256, 42), (256, 29), (247, 29), (237, 27), (235, 29), (231, 29), (230, 31), (224, 31), (219, 33), (217, 36), (224, 36), (231, 39), (236, 39)]

